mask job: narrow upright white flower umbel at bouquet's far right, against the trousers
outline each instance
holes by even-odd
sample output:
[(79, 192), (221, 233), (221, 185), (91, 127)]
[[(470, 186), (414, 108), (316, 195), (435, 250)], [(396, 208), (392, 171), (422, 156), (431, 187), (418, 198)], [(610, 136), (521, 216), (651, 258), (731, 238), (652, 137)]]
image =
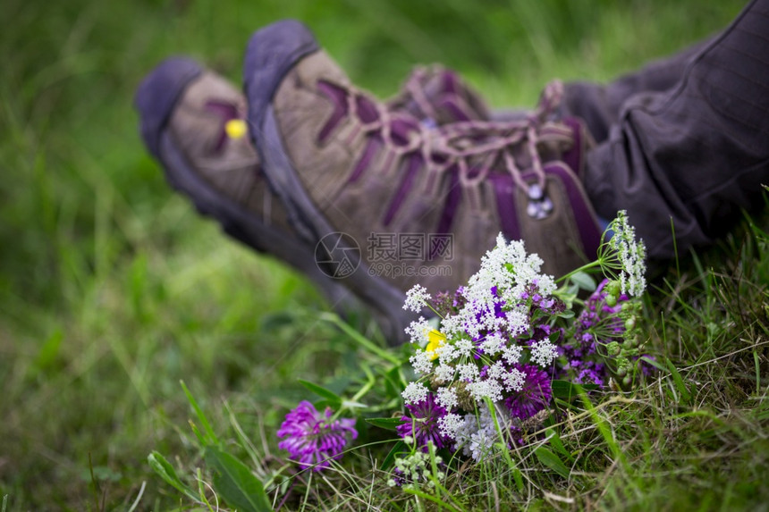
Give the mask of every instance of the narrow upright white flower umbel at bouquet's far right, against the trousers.
[(617, 217), (609, 225), (613, 231), (609, 247), (620, 258), (620, 285), (622, 293), (640, 297), (646, 290), (646, 246), (644, 240), (636, 241), (636, 230), (628, 222), (625, 210), (617, 212)]

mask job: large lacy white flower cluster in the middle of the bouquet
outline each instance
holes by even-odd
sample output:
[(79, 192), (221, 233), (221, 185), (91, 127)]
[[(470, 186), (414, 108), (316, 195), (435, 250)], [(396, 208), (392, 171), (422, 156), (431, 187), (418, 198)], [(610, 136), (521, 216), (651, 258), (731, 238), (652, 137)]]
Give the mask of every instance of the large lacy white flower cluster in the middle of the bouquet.
[[(557, 357), (550, 340), (527, 347), (522, 339), (516, 339), (530, 329), (531, 305), (526, 298), (531, 290), (542, 298), (555, 291), (553, 277), (539, 272), (541, 265), (539, 256), (526, 254), (523, 242), (508, 243), (500, 234), (496, 248), (482, 258), (480, 270), (462, 291), (465, 305), (455, 315), (442, 319), (442, 340), (435, 342), (435, 326), (424, 318), (406, 330), (419, 348), (427, 347), (431, 335), (434, 340), (430, 350), (417, 350), (410, 358), (421, 379), (410, 382), (402, 393), (403, 399), (407, 405), (416, 404), (426, 399), (427, 393), (433, 393), (435, 403), (447, 411), (438, 419), (439, 432), (476, 460), (485, 457), (499, 441), (486, 399), (502, 403), (523, 389), (527, 375), (515, 365), (520, 363), (524, 350), (530, 352), (532, 364), (541, 366), (551, 365)], [(418, 311), (417, 306), (427, 299), (427, 290), (416, 286), (410, 290), (406, 306)], [(468, 401), (475, 404), (478, 415), (465, 414), (470, 412)], [(506, 425), (503, 431), (509, 429), (509, 414), (503, 412), (505, 407), (497, 408), (498, 420)]]

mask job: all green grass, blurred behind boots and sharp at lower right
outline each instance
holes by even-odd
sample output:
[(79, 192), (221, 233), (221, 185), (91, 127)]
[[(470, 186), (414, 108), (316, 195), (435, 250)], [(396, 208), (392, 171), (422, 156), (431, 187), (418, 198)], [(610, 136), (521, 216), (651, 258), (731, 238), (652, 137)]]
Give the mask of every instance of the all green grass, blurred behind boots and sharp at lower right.
[[(5, 1), (0, 507), (7, 495), (8, 510), (127, 509), (147, 483), (139, 509), (172, 508), (179, 497), (146, 460), (159, 449), (200, 465), (181, 379), (223, 439), (234, 439), (225, 399), (259, 447), (264, 425), (274, 450), (275, 425), (307, 396), (296, 379), (341, 387), (361, 357), (317, 321), (327, 306), (306, 281), (224, 242), (167, 188), (131, 110), (160, 59), (190, 54), (240, 80), (250, 33), (291, 16), (376, 94), (439, 61), (494, 106), (532, 105), (547, 80), (608, 80), (723, 28), (741, 4)], [(585, 416), (583, 432), (562, 434), (589, 462), (568, 481), (533, 465), (519, 492), (497, 468), (496, 494), (456, 483), (462, 503), (765, 507), (769, 270), (755, 239), (730, 243), (706, 261), (682, 256), (647, 304), (650, 339), (682, 384), (663, 378), (597, 410), (627, 464), (613, 464)], [(335, 497), (351, 509), (372, 490), (359, 458)], [(373, 491), (386, 508), (384, 482)]]

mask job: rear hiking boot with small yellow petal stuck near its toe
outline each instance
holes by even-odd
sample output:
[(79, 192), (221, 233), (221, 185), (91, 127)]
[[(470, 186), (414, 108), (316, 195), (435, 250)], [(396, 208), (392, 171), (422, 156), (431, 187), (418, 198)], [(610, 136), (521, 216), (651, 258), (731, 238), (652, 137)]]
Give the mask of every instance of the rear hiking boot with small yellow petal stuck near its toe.
[[(392, 100), (422, 122), (479, 119), (486, 107), (453, 71), (418, 68)], [(270, 253), (306, 274), (337, 310), (355, 308), (350, 291), (318, 268), (316, 244), (300, 239), (280, 200), (269, 190), (247, 136), (245, 97), (224, 78), (185, 58), (159, 64), (142, 82), (135, 104), (141, 135), (165, 177), (224, 231), (259, 252)], [(401, 325), (377, 318), (390, 340)]]

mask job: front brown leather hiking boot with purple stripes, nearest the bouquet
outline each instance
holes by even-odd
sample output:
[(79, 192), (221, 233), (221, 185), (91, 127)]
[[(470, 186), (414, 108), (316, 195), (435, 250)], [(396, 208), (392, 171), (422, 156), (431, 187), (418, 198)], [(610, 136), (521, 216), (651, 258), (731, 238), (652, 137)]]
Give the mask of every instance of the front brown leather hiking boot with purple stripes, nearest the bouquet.
[(500, 231), (548, 273), (595, 256), (578, 178), (589, 137), (550, 120), (560, 83), (520, 121), (430, 126), (355, 88), (298, 21), (254, 34), (244, 76), (250, 134), (300, 236), (392, 323), (409, 322), (413, 284), (466, 282)]

